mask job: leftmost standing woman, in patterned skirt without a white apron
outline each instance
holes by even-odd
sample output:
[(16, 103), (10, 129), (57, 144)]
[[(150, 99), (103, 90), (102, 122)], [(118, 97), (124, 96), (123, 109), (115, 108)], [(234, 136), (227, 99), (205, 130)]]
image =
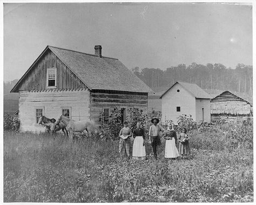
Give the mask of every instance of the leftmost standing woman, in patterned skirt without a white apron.
[(125, 154), (127, 158), (130, 158), (130, 137), (132, 136), (132, 131), (128, 127), (128, 123), (124, 122), (124, 127), (120, 130), (119, 133), (119, 153), (121, 159), (124, 158)]

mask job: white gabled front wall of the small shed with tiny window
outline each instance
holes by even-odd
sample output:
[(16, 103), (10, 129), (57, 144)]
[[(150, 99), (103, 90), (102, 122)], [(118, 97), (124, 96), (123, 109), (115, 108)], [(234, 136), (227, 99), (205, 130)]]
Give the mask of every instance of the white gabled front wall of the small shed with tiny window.
[[(196, 119), (196, 98), (181, 85), (175, 84), (161, 99), (161, 121), (173, 120), (174, 124), (177, 124), (177, 118), (181, 114), (191, 114), (192, 118)], [(180, 112), (177, 112), (177, 107), (180, 107)]]

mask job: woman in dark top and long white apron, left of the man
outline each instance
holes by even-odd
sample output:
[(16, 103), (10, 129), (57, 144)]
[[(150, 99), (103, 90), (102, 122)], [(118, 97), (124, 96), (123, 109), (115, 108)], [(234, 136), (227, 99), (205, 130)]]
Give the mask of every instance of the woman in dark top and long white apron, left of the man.
[(133, 146), (132, 146), (132, 159), (145, 160), (145, 134), (141, 122), (137, 122), (137, 128), (133, 131)]

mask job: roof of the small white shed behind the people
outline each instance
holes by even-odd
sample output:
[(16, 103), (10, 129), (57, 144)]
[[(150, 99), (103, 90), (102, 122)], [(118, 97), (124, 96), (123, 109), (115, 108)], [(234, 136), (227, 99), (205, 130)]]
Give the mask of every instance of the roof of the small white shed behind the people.
[(194, 97), (196, 98), (205, 98), (205, 99), (211, 99), (211, 96), (206, 93), (202, 88), (200, 88), (197, 84), (191, 84), (191, 83), (184, 83), (184, 82), (176, 82), (174, 83), (169, 89), (167, 89), (163, 94), (161, 94), (160, 98), (163, 97), (165, 93), (167, 93), (174, 85), (180, 84), (185, 90), (190, 92)]

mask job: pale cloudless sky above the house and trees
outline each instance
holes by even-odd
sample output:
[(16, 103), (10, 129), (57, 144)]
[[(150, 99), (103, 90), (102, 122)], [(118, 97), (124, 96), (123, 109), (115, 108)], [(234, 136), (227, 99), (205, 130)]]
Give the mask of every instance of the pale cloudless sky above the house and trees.
[(252, 6), (211, 3), (5, 3), (4, 81), (47, 45), (118, 58), (132, 69), (252, 65)]

